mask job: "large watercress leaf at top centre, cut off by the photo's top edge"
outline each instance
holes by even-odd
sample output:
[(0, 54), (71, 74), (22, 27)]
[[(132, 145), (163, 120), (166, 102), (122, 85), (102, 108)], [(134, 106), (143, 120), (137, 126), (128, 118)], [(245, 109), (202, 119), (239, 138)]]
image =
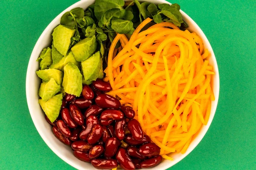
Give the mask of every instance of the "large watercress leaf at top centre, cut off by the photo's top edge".
[(122, 6), (125, 5), (123, 0), (96, 0), (94, 7), (95, 17), (100, 20), (102, 15), (111, 8), (122, 9)]

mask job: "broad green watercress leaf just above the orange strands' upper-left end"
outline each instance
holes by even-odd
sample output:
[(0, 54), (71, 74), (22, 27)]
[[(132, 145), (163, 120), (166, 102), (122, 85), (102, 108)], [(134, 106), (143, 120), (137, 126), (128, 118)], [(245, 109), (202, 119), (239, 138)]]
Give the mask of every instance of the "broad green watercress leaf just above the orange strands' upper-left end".
[(133, 23), (128, 20), (113, 19), (111, 28), (119, 34), (127, 34), (133, 28)]

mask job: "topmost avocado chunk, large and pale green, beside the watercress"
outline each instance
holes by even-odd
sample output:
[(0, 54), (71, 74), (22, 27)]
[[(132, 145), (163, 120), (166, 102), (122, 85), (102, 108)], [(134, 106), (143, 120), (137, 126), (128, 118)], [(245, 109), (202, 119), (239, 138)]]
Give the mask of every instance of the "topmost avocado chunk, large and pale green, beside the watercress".
[(74, 28), (63, 25), (59, 25), (53, 30), (53, 45), (63, 56), (67, 54), (71, 38), (74, 36), (75, 31), (76, 30)]

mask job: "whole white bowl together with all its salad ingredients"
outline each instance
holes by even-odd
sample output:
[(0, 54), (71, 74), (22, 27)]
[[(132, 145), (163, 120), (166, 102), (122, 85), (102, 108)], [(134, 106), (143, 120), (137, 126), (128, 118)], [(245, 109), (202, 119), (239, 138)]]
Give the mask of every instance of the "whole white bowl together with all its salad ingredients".
[[(97, 1), (101, 3), (103, 2), (102, 6), (108, 3), (108, 0), (96, 0), (96, 2)], [(89, 20), (86, 20), (86, 22), (81, 20), (80, 22), (80, 20), (77, 19), (77, 17), (79, 17), (78, 13), (73, 15), (68, 11), (71, 11), (74, 8), (80, 8), (80, 10), (82, 8), (85, 10), (88, 6), (95, 3), (95, 0), (81, 0), (61, 12), (61, 14), (47, 26), (32, 51), (26, 74), (26, 98), (29, 112), (35, 127), (44, 142), (56, 155), (76, 169), (91, 170), (95, 168), (123, 168), (133, 170), (135, 167), (142, 167), (146, 170), (165, 170), (186, 157), (198, 145), (212, 122), (218, 103), (219, 74), (217, 62), (207, 37), (187, 14), (181, 10), (179, 12), (180, 6), (177, 4), (169, 6), (171, 4), (165, 0), (143, 0), (143, 2), (148, 2), (144, 3), (144, 5), (146, 4), (146, 7), (142, 5), (142, 2), (140, 2), (140, 4), (137, 0), (134, 0), (134, 3), (131, 3), (131, 1), (125, 3), (125, 10), (123, 10), (122, 5), (122, 11), (125, 11), (126, 13), (124, 15), (120, 13), (119, 15), (122, 15), (120, 18), (118, 18), (119, 15), (115, 16), (117, 12), (121, 11), (121, 9), (117, 8), (117, 5), (114, 7), (117, 12), (114, 13), (111, 11), (111, 17), (113, 17), (111, 21), (106, 14), (107, 11), (102, 11), (105, 7), (99, 7), (98, 4), (97, 13), (94, 9), (95, 16), (97, 15), (96, 18), (94, 17), (94, 20), (96, 21), (87, 17)], [(113, 2), (111, 1), (111, 3), (122, 4), (124, 2), (114, 0)], [(150, 3), (153, 4), (148, 7)], [(163, 5), (157, 7), (158, 4)], [(132, 13), (132, 11), (127, 12), (128, 8), (131, 8), (131, 6), (137, 6), (139, 10), (144, 7), (145, 9), (148, 9), (148, 11), (136, 14)], [(168, 11), (169, 9), (172, 9), (173, 11)], [(93, 12), (89, 11), (89, 13)], [(102, 20), (102, 18), (104, 18), (103, 13), (105, 13), (105, 20)], [(140, 20), (138, 21), (138, 24), (133, 20), (135, 15), (140, 15), (140, 17), (138, 17), (138, 20)], [(145, 18), (145, 15), (148, 15), (148, 18)], [(83, 16), (84, 14), (82, 11), (81, 17)], [(88, 16), (90, 16), (90, 14)], [(90, 22), (91, 27), (89, 29), (89, 26), (86, 25), (89, 25)], [(148, 29), (144, 28), (143, 30), (142, 28), (150, 22), (154, 24)], [(57, 27), (60, 24), (62, 24), (61, 27)], [(137, 26), (135, 26), (136, 24)], [(61, 31), (57, 31), (56, 27), (59, 30), (66, 29), (67, 31), (65, 31), (65, 33), (62, 31), (61, 33)], [(85, 37), (81, 38), (82, 36), (80, 37), (80, 35), (82, 33), (79, 33), (78, 28), (80, 29), (83, 27), (87, 28), (83, 31)], [(174, 33), (169, 34), (170, 31)], [(114, 36), (111, 37), (113, 34)], [(188, 36), (188, 38), (186, 38), (186, 36)], [(65, 37), (69, 37), (67, 44), (65, 44)], [(104, 44), (102, 42), (107, 40), (107, 38), (112, 43), (110, 43), (108, 48), (102, 45)], [(153, 40), (153, 38), (155, 38), (154, 42), (149, 43), (148, 41), (151, 39)], [(93, 41), (92, 43), (95, 43), (96, 45), (86, 46), (85, 44), (88, 41)], [(119, 46), (118, 42), (120, 43)], [(192, 45), (189, 44), (191, 42), (193, 42)], [(97, 43), (99, 45), (98, 52), (96, 52)], [(150, 48), (147, 47), (147, 43), (148, 46), (151, 45)], [(51, 44), (52, 49), (47, 48)], [(163, 44), (165, 44), (165, 46), (163, 46)], [(84, 48), (84, 45), (87, 48)], [(71, 49), (72, 52), (68, 52), (69, 49)], [(159, 49), (163, 51), (158, 51)], [(61, 55), (61, 58), (64, 56), (57, 64), (55, 63), (55, 65), (52, 63), (52, 60), (54, 60), (54, 50)], [(107, 50), (107, 52), (104, 52), (104, 50)], [(140, 50), (143, 50), (143, 52)], [(175, 50), (176, 52), (170, 54)], [(41, 51), (43, 52), (41, 53)], [(193, 51), (193, 56), (191, 51)], [(87, 55), (88, 53), (89, 56)], [(108, 56), (104, 57), (106, 54), (108, 54)], [(47, 58), (47, 55), (48, 57), (50, 56), (50, 58)], [(38, 58), (39, 56), (40, 58)], [(96, 60), (94, 61), (93, 59), (97, 56), (99, 59), (101, 59), (100, 56), (102, 56), (102, 59), (96, 62)], [(138, 58), (138, 56), (141, 58)], [(133, 57), (135, 58), (133, 59)], [(201, 62), (198, 62), (198, 60), (195, 60), (193, 57), (199, 57)], [(69, 60), (67, 61), (67, 59)], [(129, 59), (131, 59), (131, 61), (129, 61)], [(126, 60), (128, 61), (126, 62)], [(183, 62), (183, 60), (185, 62)], [(106, 62), (105, 64), (108, 66), (104, 65), (104, 62)], [(126, 67), (127, 65), (125, 63), (128, 63), (130, 66)], [(180, 63), (182, 65), (180, 65)], [(98, 70), (95, 74), (96, 68)], [(56, 78), (56, 76), (50, 72), (46, 74), (45, 71), (47, 69), (52, 69), (58, 72), (59, 75), (61, 75), (61, 79), (58, 79), (58, 76)], [(62, 72), (63, 70), (64, 73)], [(131, 70), (133, 70), (132, 73), (130, 72)], [(197, 76), (193, 77), (194, 74)], [(199, 74), (201, 77), (198, 76)], [(153, 77), (157, 78), (154, 79)], [(105, 82), (103, 82), (102, 79)], [(174, 85), (175, 81), (179, 82), (177, 86)], [(102, 82), (103, 84), (105, 83), (105, 86), (103, 85), (104, 87), (100, 86), (102, 85)], [(172, 82), (172, 84), (170, 84), (170, 82)], [(190, 86), (187, 87), (187, 84), (189, 83)], [(131, 86), (127, 86), (127, 84)], [(90, 91), (92, 91), (91, 88), (94, 89), (93, 95), (95, 95), (95, 97), (92, 97), (90, 100), (90, 105), (83, 108), (83, 106), (80, 107), (81, 105), (79, 104), (79, 101), (85, 101), (86, 94), (83, 94), (83, 92), (86, 91), (84, 90), (86, 88)], [(181, 91), (179, 91), (180, 89)], [(97, 91), (101, 92), (97, 94)], [(172, 97), (169, 97), (171, 94), (176, 95), (176, 102)], [(100, 103), (103, 100), (108, 100), (104, 97), (104, 99), (99, 99), (100, 95), (102, 95), (101, 97), (105, 95), (105, 97), (112, 100), (112, 106), (108, 103), (108, 106), (105, 107), (104, 104)], [(73, 99), (75, 100), (69, 100), (67, 99), (68, 97), (74, 97)], [(117, 102), (115, 102), (116, 100)], [(67, 104), (63, 104), (63, 101), (70, 102), (69, 109)], [(105, 104), (106, 103), (107, 102), (105, 102)], [(117, 104), (113, 105), (113, 103)], [(161, 107), (162, 105), (165, 105), (166, 107)], [(189, 106), (187, 107), (187, 105)], [(98, 123), (94, 125), (91, 124), (90, 132), (88, 133), (89, 137), (87, 136), (83, 139), (81, 133), (77, 133), (81, 140), (78, 139), (80, 141), (76, 141), (76, 144), (78, 145), (78, 142), (80, 142), (80, 145), (81, 143), (86, 143), (90, 146), (89, 149), (93, 146), (96, 147), (101, 145), (103, 150), (105, 149), (104, 156), (102, 155), (103, 151), (98, 156), (90, 156), (91, 150), (89, 152), (89, 149), (81, 150), (81, 148), (77, 148), (74, 144), (75, 142), (73, 142), (77, 139), (71, 139), (70, 137), (71, 132), (73, 133), (75, 131), (70, 131), (71, 128), (80, 125), (81, 129), (84, 129), (82, 132), (88, 129), (89, 123), (87, 124), (86, 121), (90, 115), (88, 113), (89, 107), (104, 108), (102, 109), (104, 111), (101, 111), (102, 113), (100, 112), (101, 115), (99, 115), (99, 113), (94, 116)], [(133, 108), (134, 111), (129, 107)], [(83, 109), (88, 108), (85, 113), (83, 113), (84, 116), (80, 116), (80, 118), (82, 117), (82, 120), (79, 118), (76, 119), (76, 111), (81, 113), (79, 108), (83, 112), (85, 111)], [(180, 108), (182, 111), (179, 113)], [(128, 113), (126, 114), (127, 110), (125, 109), (130, 109), (130, 112), (128, 113), (134, 114), (129, 116)], [(63, 114), (66, 114), (65, 111), (67, 114), (71, 114), (72, 117), (70, 116), (70, 119), (73, 119), (74, 124), (78, 125), (71, 127), (72, 125), (69, 124), (67, 118), (63, 117)], [(111, 114), (112, 116), (109, 116), (112, 112), (115, 113)], [(59, 113), (63, 120), (59, 118)], [(119, 116), (116, 116), (118, 114)], [(48, 119), (48, 122), (45, 119)], [(55, 120), (58, 120), (58, 122), (56, 123)], [(166, 121), (167, 124), (165, 124)], [(87, 127), (84, 125), (85, 122)], [(103, 129), (107, 128), (107, 125), (103, 125), (103, 122), (110, 122), (108, 125), (113, 124), (112, 126), (115, 128), (115, 132), (114, 134), (111, 133), (112, 138), (115, 138), (114, 136), (116, 136), (117, 139), (115, 138), (115, 140), (117, 142), (122, 142), (122, 145), (121, 143), (119, 144), (121, 145), (120, 147), (117, 146), (117, 152), (115, 150), (115, 153), (111, 156), (108, 156), (106, 153), (106, 141), (109, 141), (109, 138), (105, 140), (103, 139), (105, 131), (103, 130), (102, 132), (102, 127)], [(200, 125), (198, 123), (200, 123)], [(119, 125), (121, 126), (120, 128), (118, 127)], [(125, 131), (126, 125), (128, 132), (127, 130)], [(62, 129), (64, 127), (67, 127), (67, 131)], [(98, 131), (95, 130), (97, 128)], [(95, 137), (93, 136), (93, 133), (103, 134), (103, 137), (101, 138), (101, 136), (98, 135), (99, 139), (95, 140), (97, 135)], [(121, 136), (122, 133), (125, 136)], [(143, 141), (144, 138), (146, 138), (145, 140), (149, 139), (149, 141), (147, 141), (149, 143), (144, 142), (141, 143), (141, 146), (137, 145), (137, 150), (133, 144), (127, 142), (127, 134), (137, 141)], [(138, 134), (139, 136), (136, 136)], [(172, 138), (172, 135), (176, 135), (176, 137)], [(191, 136), (188, 137), (186, 135)], [(186, 141), (182, 143), (184, 138), (186, 138)], [(93, 142), (93, 140), (95, 142)], [(103, 142), (101, 140), (103, 140)], [(181, 141), (181, 143), (178, 141)], [(124, 143), (135, 148), (139, 156), (133, 156)], [(150, 150), (150, 148), (146, 148), (148, 146), (145, 144), (148, 144), (148, 146), (151, 144), (155, 149)], [(144, 151), (148, 153), (145, 153)], [(87, 156), (88, 158), (81, 158), (81, 155), (79, 157), (78, 154), (84, 154), (84, 156)], [(116, 156), (114, 156), (115, 154)], [(101, 158), (101, 160), (95, 159), (97, 157)], [(139, 163), (134, 161), (134, 157), (141, 158), (140, 160), (137, 159)], [(111, 160), (111, 166), (107, 166), (102, 159), (105, 161)], [(91, 162), (91, 164), (88, 162)], [(117, 167), (118, 164), (120, 167)]]

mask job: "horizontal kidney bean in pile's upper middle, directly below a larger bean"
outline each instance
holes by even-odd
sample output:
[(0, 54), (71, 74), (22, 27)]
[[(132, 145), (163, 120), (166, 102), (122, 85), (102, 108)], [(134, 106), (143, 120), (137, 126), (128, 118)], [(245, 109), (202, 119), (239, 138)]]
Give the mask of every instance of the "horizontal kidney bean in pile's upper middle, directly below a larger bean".
[(122, 120), (124, 113), (114, 109), (107, 109), (100, 115), (101, 120)]

